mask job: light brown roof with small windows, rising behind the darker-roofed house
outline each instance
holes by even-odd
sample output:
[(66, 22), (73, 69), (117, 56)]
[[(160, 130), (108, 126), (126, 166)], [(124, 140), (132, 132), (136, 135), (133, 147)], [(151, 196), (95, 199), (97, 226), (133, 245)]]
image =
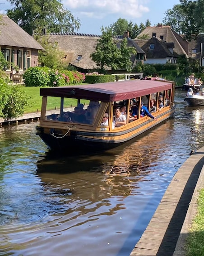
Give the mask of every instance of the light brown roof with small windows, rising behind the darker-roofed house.
[(167, 43), (174, 42), (174, 52), (179, 55), (185, 54), (185, 56), (188, 57), (189, 42), (171, 29), (170, 26), (158, 25), (154, 27), (147, 27), (139, 34), (139, 37), (143, 35), (148, 35), (149, 39), (155, 36), (158, 39), (162, 38), (162, 40)]

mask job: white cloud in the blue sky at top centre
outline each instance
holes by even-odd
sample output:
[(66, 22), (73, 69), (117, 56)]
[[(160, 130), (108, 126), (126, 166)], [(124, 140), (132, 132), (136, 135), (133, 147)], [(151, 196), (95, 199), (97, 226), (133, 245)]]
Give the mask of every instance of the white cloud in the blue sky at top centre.
[(142, 17), (150, 10), (148, 0), (63, 0), (62, 4), (80, 16), (103, 19), (109, 14), (119, 14), (121, 18)]

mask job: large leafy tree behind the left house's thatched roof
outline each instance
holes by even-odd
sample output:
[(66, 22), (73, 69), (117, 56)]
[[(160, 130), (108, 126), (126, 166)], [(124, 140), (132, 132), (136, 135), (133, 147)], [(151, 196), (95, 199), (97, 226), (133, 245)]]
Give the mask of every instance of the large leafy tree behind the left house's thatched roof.
[(43, 29), (49, 33), (74, 32), (79, 29), (79, 19), (69, 10), (64, 9), (61, 0), (8, 0), (14, 8), (7, 11), (28, 34), (42, 34)]

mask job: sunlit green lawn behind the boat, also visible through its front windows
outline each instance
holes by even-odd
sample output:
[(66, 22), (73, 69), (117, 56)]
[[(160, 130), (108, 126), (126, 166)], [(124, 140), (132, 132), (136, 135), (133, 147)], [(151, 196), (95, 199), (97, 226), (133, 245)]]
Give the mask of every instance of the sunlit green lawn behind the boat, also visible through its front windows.
[[(29, 105), (25, 107), (24, 113), (34, 113), (41, 111), (42, 96), (40, 96), (40, 87), (23, 87), (24, 92), (30, 97)], [(82, 103), (88, 104), (89, 101)], [(65, 99), (64, 107), (77, 106), (75, 99)], [(59, 109), (60, 101), (57, 97), (49, 97), (47, 101), (47, 110)]]

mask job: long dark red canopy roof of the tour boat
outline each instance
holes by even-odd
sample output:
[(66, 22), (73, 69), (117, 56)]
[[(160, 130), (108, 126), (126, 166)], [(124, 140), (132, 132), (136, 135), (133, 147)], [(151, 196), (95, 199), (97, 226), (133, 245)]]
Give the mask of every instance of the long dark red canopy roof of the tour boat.
[(121, 101), (171, 89), (172, 83), (156, 80), (131, 80), (67, 87), (50, 87), (41, 88), (40, 95), (93, 101)]

